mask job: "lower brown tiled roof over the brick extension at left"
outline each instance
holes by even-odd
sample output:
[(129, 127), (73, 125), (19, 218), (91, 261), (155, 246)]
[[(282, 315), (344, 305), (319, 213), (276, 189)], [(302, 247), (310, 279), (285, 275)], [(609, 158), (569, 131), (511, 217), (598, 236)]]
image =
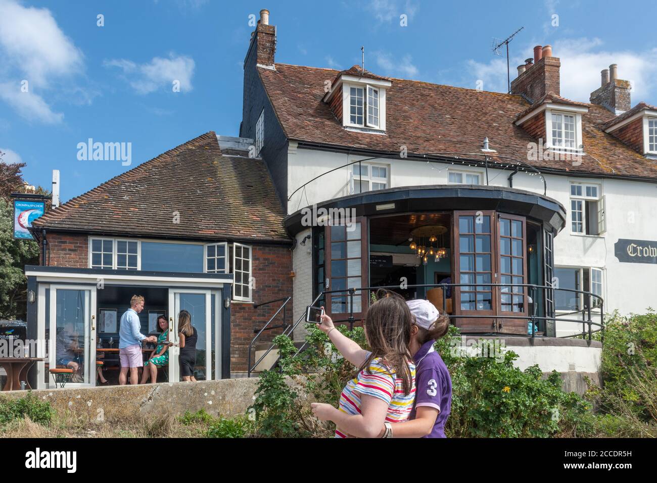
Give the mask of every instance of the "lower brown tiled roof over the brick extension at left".
[(210, 131), (69, 200), (33, 224), (53, 231), (139, 237), (289, 241), (283, 218), (265, 163), (223, 156)]

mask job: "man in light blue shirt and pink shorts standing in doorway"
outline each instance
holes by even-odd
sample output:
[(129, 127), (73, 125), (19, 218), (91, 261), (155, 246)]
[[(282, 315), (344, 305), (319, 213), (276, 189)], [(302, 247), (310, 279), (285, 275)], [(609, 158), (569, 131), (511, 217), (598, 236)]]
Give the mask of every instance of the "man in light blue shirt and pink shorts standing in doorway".
[(121, 328), (119, 329), (119, 357), (121, 359), (121, 372), (119, 384), (124, 385), (127, 381), (127, 370), (130, 369), (130, 384), (139, 384), (138, 367), (144, 366), (141, 356), (141, 342), (157, 342), (156, 336), (145, 336), (141, 333), (141, 322), (139, 312), (144, 310), (144, 298), (141, 295), (133, 295), (130, 299), (130, 308), (121, 316)]

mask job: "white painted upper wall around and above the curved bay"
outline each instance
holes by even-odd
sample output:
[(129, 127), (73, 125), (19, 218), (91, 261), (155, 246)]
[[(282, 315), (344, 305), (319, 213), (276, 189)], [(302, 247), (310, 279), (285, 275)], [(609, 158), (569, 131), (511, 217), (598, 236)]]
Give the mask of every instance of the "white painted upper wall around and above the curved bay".
[[(365, 156), (348, 157), (346, 154), (309, 149), (290, 151), (288, 195), (309, 179), (358, 159), (365, 159)], [(371, 162), (390, 166), (389, 187), (445, 185), (449, 170), (479, 172), (482, 173), (484, 184), (486, 180), (483, 168), (403, 159), (380, 159)], [(564, 166), (564, 169), (566, 167)], [(288, 203), (288, 213), (294, 213), (304, 206), (348, 195), (350, 169), (336, 170), (298, 191)], [(509, 186), (509, 170), (489, 169), (488, 174), (490, 185)], [(545, 179), (547, 196), (555, 198), (568, 210), (566, 227), (555, 237), (555, 265), (603, 269), (602, 296), (606, 312), (618, 309), (626, 315), (631, 312), (643, 313), (649, 306), (657, 308), (657, 265), (622, 263), (614, 256), (614, 243), (620, 238), (657, 242), (657, 183), (613, 178), (586, 179), (568, 175), (545, 175)], [(606, 233), (603, 236), (570, 233), (570, 181), (600, 185), (602, 195), (606, 195)], [(520, 172), (514, 175), (513, 187), (543, 193), (540, 177), (529, 173)], [(298, 255), (295, 254), (295, 257)], [(311, 260), (309, 255), (307, 257)], [(296, 284), (295, 280), (295, 296), (298, 287)], [(306, 290), (310, 294), (311, 285), (299, 285), (299, 290)], [(311, 300), (309, 295), (304, 295), (304, 299)], [(295, 305), (301, 302), (300, 298), (295, 298)], [(581, 326), (572, 331), (566, 329), (573, 325), (575, 324), (558, 325), (557, 335), (581, 331)]]

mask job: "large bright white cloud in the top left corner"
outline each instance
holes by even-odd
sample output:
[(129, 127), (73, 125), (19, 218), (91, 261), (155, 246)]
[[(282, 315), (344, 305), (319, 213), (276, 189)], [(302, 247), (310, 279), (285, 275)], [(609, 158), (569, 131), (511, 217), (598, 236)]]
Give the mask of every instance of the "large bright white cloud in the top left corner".
[(48, 9), (0, 0), (0, 58), (32, 85), (45, 86), (51, 76), (75, 74), (82, 54), (64, 35)]

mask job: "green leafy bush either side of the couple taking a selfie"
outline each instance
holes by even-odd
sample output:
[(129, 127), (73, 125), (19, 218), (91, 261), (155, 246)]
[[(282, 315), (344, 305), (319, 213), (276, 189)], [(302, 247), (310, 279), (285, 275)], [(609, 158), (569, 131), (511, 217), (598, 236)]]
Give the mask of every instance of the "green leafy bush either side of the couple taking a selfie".
[[(342, 332), (366, 348), (361, 327)], [(452, 379), (451, 415), (445, 433), (451, 437), (534, 437), (554, 435), (588, 436), (593, 432), (591, 405), (578, 394), (566, 393), (558, 373), (543, 379), (537, 365), (521, 371), (518, 358), (507, 351), (503, 361), (492, 357), (463, 357), (452, 352), (452, 337), (459, 329), (451, 326), (447, 336), (436, 342)], [(286, 336), (274, 339), (281, 351), (281, 372), (261, 375), (256, 403), (256, 432), (260, 436), (328, 436), (332, 424), (317, 425), (309, 411), (298, 402), (297, 391), (286, 384), (285, 376), (296, 380), (317, 402), (337, 406), (344, 385), (356, 369), (346, 361), (315, 325), (307, 325), (307, 348), (294, 357), (296, 348)]]

